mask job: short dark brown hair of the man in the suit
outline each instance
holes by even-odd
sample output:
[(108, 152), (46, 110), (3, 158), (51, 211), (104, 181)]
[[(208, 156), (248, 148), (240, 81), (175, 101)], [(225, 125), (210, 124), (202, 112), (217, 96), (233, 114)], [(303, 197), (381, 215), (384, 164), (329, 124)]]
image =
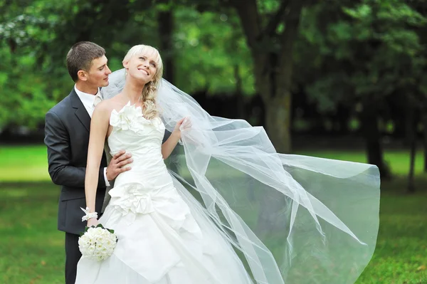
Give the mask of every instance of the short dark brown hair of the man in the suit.
[(105, 55), (105, 49), (90, 41), (80, 41), (71, 46), (67, 53), (67, 69), (74, 82), (79, 70), (90, 70), (92, 61)]

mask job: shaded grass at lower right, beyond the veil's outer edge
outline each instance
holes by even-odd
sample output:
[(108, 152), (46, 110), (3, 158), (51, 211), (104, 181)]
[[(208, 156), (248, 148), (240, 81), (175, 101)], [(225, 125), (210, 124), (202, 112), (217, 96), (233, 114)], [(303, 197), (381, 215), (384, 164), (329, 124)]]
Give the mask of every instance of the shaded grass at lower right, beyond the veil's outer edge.
[(427, 283), (426, 200), (425, 193), (382, 194), (376, 250), (358, 284)]

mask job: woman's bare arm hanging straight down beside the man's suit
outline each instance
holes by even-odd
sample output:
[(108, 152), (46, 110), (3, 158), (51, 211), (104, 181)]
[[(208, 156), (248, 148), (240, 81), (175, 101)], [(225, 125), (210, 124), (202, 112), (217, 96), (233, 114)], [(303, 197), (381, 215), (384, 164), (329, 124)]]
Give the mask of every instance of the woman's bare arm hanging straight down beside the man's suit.
[(86, 206), (89, 212), (95, 211), (95, 198), (98, 183), (98, 174), (104, 151), (105, 137), (107, 137), (110, 117), (110, 107), (108, 102), (100, 102), (92, 115), (90, 122), (90, 137), (88, 148), (88, 164), (85, 175), (85, 196)]

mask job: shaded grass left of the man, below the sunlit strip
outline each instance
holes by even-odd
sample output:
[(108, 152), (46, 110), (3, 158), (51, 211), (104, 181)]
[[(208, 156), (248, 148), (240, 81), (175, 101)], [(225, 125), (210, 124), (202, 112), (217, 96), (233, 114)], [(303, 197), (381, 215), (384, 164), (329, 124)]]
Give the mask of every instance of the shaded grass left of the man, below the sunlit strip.
[(64, 283), (58, 186), (0, 184), (0, 283)]

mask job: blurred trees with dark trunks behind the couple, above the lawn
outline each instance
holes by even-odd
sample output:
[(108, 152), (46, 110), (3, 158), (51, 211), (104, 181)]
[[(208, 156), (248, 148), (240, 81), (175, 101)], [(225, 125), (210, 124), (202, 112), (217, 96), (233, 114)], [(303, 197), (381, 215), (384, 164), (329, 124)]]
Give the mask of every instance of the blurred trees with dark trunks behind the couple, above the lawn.
[(388, 178), (384, 143), (427, 149), (426, 16), (404, 0), (0, 0), (0, 138), (41, 142), (73, 43), (103, 46), (112, 70), (144, 43), (211, 115), (263, 125), (278, 152), (360, 144)]

